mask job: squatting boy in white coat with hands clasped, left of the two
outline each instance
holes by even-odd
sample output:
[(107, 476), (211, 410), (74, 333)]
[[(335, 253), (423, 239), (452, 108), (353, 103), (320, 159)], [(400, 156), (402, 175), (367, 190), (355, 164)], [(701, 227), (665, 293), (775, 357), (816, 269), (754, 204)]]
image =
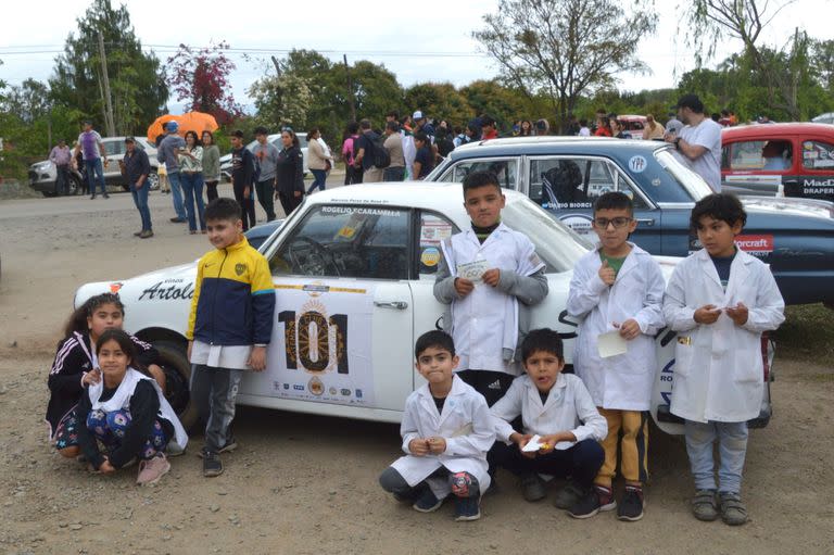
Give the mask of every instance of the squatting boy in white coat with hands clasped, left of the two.
[(490, 409), (455, 375), (459, 360), (448, 333), (424, 333), (415, 355), (428, 383), (405, 401), (400, 432), (406, 455), (382, 472), (379, 483), (420, 513), (437, 510), (451, 493), (455, 520), (477, 520), (481, 494), (490, 487), (486, 451), (495, 441)]

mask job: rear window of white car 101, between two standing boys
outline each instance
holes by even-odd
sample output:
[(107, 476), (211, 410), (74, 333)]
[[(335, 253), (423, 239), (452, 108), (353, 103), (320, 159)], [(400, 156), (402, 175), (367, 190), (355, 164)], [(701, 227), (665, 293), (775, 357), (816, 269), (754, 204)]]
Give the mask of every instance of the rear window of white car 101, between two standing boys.
[(523, 230), (548, 274), (573, 269), (577, 261), (593, 248), (527, 198), (507, 203), (501, 211), (501, 219), (511, 229)]

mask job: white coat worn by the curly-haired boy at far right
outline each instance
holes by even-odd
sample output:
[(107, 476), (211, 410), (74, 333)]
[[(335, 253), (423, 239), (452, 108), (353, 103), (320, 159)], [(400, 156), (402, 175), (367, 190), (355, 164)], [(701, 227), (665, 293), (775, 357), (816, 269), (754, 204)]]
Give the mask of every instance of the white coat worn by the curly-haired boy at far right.
[[(706, 304), (743, 302), (743, 326), (725, 313), (711, 325), (693, 318)], [(726, 292), (706, 249), (674, 268), (664, 298), (664, 314), (678, 331), (671, 412), (687, 420), (741, 422), (759, 415), (764, 392), (761, 333), (785, 319), (785, 303), (770, 268), (738, 250), (730, 267)]]

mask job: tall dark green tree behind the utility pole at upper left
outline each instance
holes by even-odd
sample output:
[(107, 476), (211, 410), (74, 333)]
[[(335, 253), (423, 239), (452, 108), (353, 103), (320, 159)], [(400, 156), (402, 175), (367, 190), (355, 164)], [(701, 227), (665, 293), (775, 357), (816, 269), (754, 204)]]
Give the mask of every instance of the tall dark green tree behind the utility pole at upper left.
[(93, 0), (78, 33), (70, 34), (64, 53), (55, 60), (50, 78), (55, 105), (77, 110), (83, 117), (104, 121), (103, 74), (99, 49), (101, 34), (116, 134), (139, 134), (162, 112), (168, 98), (160, 61), (142, 51), (126, 5), (113, 10), (110, 0)]

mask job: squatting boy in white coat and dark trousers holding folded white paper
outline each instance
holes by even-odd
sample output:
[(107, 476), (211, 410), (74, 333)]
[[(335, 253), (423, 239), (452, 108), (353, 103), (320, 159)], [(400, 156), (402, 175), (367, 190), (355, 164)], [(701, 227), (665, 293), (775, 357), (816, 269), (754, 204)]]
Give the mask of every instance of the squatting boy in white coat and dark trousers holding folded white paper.
[[(570, 515), (593, 516), (598, 512), (593, 480), (603, 465), (598, 441), (607, 432), (605, 418), (582, 380), (561, 374), (565, 356), (556, 331), (530, 331), (521, 343), (521, 360), (527, 374), (516, 378), (507, 394), (492, 405), (498, 441), (490, 451), (490, 462), (520, 476), (525, 499), (531, 502), (546, 495), (539, 472), (572, 476), (581, 495), (567, 507)], [(522, 432), (510, 425), (519, 416)]]

